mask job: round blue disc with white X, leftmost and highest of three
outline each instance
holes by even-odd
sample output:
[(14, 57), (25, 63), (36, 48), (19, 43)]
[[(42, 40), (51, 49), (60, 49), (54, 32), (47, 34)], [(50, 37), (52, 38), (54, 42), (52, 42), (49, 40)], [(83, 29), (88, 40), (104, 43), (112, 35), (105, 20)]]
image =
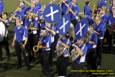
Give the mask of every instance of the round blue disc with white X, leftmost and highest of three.
[(46, 22), (55, 23), (61, 18), (61, 9), (56, 4), (49, 4), (43, 13)]

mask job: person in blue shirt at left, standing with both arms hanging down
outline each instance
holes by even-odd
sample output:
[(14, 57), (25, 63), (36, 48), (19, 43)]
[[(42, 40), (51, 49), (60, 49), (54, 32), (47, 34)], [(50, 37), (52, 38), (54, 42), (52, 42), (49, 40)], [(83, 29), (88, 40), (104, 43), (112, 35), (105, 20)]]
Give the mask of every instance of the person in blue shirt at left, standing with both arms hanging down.
[(22, 56), (24, 58), (24, 62), (27, 66), (27, 69), (30, 68), (27, 54), (25, 52), (25, 45), (27, 43), (28, 33), (27, 30), (22, 26), (22, 21), (17, 18), (16, 19), (16, 26), (14, 28), (14, 38), (12, 42), (12, 46), (16, 49), (16, 56), (17, 56), (17, 69), (22, 67)]

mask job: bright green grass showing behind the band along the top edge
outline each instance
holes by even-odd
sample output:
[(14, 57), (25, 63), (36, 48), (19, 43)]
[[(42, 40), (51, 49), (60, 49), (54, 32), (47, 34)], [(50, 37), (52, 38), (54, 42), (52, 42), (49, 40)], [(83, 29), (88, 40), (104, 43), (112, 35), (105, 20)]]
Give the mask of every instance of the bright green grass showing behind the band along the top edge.
[[(27, 0), (27, 1), (30, 1), (30, 0)], [(45, 5), (45, 4), (48, 4), (51, 0), (40, 0), (40, 2)], [(4, 0), (5, 2), (5, 11), (7, 12), (12, 12), (16, 9), (16, 7), (18, 6), (19, 4), (19, 0)], [(55, 3), (59, 3), (60, 0), (56, 0)], [(91, 8), (93, 8), (94, 4), (97, 3), (97, 0), (91, 0)], [(81, 2), (78, 3), (79, 6), (80, 6), (80, 10), (83, 11), (83, 7), (84, 7), (84, 4), (85, 4), (85, 0), (81, 0)]]

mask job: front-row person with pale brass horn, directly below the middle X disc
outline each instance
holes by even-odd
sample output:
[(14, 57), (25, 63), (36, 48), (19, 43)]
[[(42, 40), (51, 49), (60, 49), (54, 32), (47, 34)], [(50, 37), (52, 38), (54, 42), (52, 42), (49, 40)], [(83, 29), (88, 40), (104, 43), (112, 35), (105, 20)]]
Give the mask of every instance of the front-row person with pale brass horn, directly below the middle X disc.
[(58, 40), (57, 43), (57, 72), (58, 77), (67, 76), (67, 67), (69, 65), (69, 46), (71, 46), (70, 35), (67, 33), (65, 37)]

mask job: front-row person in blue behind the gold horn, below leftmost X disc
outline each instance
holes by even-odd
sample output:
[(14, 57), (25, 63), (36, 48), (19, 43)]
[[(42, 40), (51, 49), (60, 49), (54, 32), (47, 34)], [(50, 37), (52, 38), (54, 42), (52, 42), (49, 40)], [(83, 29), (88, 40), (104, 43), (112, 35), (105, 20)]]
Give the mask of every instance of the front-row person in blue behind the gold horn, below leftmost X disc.
[(51, 67), (50, 67), (50, 50), (51, 50), (51, 44), (52, 44), (52, 39), (49, 36), (49, 31), (46, 29), (41, 30), (41, 45), (43, 46), (41, 48), (41, 53), (40, 53), (40, 62), (42, 66), (42, 71), (43, 73), (51, 77)]

